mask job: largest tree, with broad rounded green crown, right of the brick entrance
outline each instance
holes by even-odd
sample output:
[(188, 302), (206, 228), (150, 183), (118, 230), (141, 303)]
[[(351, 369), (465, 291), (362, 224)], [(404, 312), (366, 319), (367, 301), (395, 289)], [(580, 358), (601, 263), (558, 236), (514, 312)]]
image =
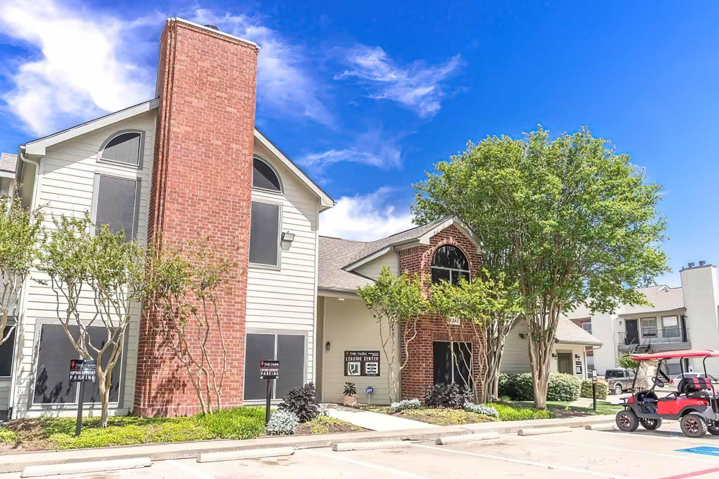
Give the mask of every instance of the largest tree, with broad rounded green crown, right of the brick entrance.
[(490, 251), (508, 255), (539, 408), (546, 406), (562, 312), (647, 304), (635, 288), (669, 271), (661, 250), (666, 219), (657, 211), (661, 186), (607, 143), (586, 128), (552, 141), (541, 126), (523, 139), (487, 137), (415, 185), (418, 220), (461, 215), (489, 239)]

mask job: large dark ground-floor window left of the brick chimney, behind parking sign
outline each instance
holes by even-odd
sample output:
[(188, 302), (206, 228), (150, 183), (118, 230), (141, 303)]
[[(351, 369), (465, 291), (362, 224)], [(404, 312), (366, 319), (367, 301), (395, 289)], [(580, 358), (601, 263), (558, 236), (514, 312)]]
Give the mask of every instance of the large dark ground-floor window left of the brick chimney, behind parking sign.
[[(78, 337), (78, 327), (68, 327), (73, 338)], [(90, 327), (91, 343), (96, 348), (103, 343), (106, 337), (104, 327)], [(105, 356), (109, 353), (106, 352)], [(95, 356), (94, 354), (92, 354)], [(70, 344), (63, 327), (60, 325), (42, 325), (40, 329), (40, 345), (37, 354), (37, 373), (35, 376), (35, 404), (62, 404), (74, 403), (77, 399), (77, 383), (70, 384), (70, 359), (79, 358), (78, 352)], [(107, 364), (106, 358), (104, 364)], [(115, 402), (119, 397), (120, 375), (122, 358), (117, 361), (112, 370), (112, 385), (110, 401)], [(83, 401), (100, 402), (99, 387), (97, 383), (85, 383)]]

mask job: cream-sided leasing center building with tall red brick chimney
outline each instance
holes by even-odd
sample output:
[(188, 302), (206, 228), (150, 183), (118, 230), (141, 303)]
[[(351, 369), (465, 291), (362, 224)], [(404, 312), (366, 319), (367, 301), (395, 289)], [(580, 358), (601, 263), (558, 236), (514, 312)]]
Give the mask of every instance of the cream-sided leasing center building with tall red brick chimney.
[[(214, 27), (168, 19), (157, 97), (21, 145), (13, 167), (19, 195), (27, 208), (42, 205), (47, 228), (54, 215), (89, 213), (139, 243), (160, 233), (179, 244), (209, 236), (210, 248), (234, 260), (231, 290), (219, 298), (229, 352), (225, 406), (263, 401), (259, 361), (273, 358), (281, 364), (275, 403), (309, 381), (323, 401), (341, 402), (344, 382), (353, 381), (387, 402), (390, 365), (377, 355), (378, 325), (357, 286), (382, 266), (424, 274), (427, 289), (472, 277), (482, 266), (480, 242), (454, 217), (367, 243), (319, 237), (319, 214), (334, 201), (255, 128), (258, 50)], [(12, 318), (14, 338), (0, 346), (0, 411), (14, 418), (73, 415), (78, 404), (68, 382), (77, 355), (58, 322), (64, 304), (37, 279), (47, 278), (31, 272)], [(93, 307), (91, 294), (83, 296), (83, 321)], [(513, 371), (528, 370), (519, 327), (506, 360)], [(93, 338), (103, 332), (90, 327)], [(583, 350), (598, 340), (569, 321), (557, 338), (557, 371), (585, 377)], [(401, 395), (421, 398), (434, 383), (457, 380), (466, 371), (452, 354), (461, 348), (478, 351), (463, 326), (421, 318), (406, 347)], [(113, 375), (111, 414), (197, 412), (184, 375), (138, 304)], [(96, 389), (86, 389), (83, 402), (87, 414), (98, 413)]]

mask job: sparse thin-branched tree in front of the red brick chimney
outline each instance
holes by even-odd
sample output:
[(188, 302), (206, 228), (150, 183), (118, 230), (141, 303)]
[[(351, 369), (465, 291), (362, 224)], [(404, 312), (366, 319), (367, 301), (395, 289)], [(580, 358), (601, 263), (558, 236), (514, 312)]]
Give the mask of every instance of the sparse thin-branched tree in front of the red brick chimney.
[(145, 266), (146, 324), (186, 369), (203, 414), (221, 409), (228, 352), (217, 295), (234, 264), (216, 258), (207, 240), (173, 246), (160, 239)]

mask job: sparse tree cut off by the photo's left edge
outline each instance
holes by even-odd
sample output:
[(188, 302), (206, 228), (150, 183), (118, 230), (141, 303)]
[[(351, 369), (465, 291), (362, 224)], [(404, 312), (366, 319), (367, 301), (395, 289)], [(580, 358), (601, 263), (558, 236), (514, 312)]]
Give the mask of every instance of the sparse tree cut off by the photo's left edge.
[(40, 258), (42, 232), (40, 209), (25, 210), (17, 194), (0, 197), (0, 345), (17, 327), (9, 318), (18, 317), (20, 288)]

